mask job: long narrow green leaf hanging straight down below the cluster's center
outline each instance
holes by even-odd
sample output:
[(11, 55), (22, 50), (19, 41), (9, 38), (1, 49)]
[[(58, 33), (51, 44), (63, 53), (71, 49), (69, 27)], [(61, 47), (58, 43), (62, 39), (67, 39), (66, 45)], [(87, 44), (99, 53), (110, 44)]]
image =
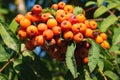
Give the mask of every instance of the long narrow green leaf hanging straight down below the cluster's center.
[(75, 57), (74, 57), (74, 50), (75, 50), (75, 44), (71, 43), (66, 52), (66, 65), (67, 68), (70, 70), (74, 78), (78, 77), (78, 72), (77, 72), (77, 66), (75, 63)]

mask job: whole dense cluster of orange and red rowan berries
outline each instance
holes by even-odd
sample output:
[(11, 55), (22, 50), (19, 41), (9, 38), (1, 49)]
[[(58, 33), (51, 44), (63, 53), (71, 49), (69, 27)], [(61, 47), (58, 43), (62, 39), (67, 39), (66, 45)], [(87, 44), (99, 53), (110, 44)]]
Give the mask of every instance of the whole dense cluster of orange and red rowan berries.
[(42, 7), (34, 5), (25, 15), (15, 17), (20, 25), (18, 35), (25, 40), (26, 48), (33, 50), (36, 46), (45, 49), (52, 58), (63, 61), (69, 42), (76, 43), (75, 58), (79, 62), (88, 62), (90, 43), (84, 38), (92, 38), (102, 47), (109, 49), (107, 35), (97, 30), (97, 22), (87, 20), (84, 14), (74, 14), (74, 7), (64, 2), (53, 4), (50, 12), (42, 13)]

